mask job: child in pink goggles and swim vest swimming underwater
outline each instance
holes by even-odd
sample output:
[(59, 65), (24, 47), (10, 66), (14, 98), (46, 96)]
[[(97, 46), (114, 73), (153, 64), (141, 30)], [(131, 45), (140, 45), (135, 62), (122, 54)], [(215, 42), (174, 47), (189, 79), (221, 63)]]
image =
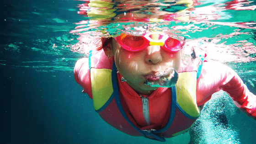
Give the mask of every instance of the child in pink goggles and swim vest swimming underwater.
[(203, 104), (223, 90), (237, 107), (256, 118), (256, 96), (234, 70), (204, 59), (192, 49), (193, 63), (182, 62), (183, 39), (162, 32), (101, 38), (102, 47), (75, 64), (75, 80), (96, 112), (132, 136), (165, 141), (186, 132)]

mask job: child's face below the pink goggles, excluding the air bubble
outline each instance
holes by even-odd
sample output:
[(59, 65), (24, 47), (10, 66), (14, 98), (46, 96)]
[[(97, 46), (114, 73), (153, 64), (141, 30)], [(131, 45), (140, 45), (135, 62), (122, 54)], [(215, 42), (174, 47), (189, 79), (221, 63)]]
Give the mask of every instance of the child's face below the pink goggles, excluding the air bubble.
[(178, 71), (180, 68), (182, 50), (170, 53), (154, 45), (139, 52), (130, 52), (122, 48), (115, 39), (110, 46), (119, 73), (127, 80), (128, 85), (140, 94), (150, 94), (157, 88), (144, 85), (144, 82), (157, 81), (154, 75), (158, 72), (164, 72), (168, 68)]

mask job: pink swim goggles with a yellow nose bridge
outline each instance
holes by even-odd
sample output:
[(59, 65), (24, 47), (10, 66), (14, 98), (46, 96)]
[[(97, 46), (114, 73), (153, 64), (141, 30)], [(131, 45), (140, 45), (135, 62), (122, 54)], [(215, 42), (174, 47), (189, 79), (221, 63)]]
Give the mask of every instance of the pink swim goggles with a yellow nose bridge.
[(144, 36), (121, 34), (115, 39), (125, 50), (130, 52), (138, 52), (149, 46), (157, 45), (167, 52), (175, 53), (184, 45), (184, 41), (179, 41), (166, 34), (147, 33)]

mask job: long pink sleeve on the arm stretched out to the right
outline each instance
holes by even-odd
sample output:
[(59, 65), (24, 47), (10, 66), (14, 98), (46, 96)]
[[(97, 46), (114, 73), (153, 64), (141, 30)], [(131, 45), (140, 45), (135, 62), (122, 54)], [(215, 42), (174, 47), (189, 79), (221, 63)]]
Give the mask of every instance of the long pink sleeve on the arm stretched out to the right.
[(226, 91), (235, 105), (248, 116), (256, 117), (256, 96), (252, 94), (235, 71), (218, 62), (204, 62), (197, 79), (197, 105), (201, 106), (217, 91)]

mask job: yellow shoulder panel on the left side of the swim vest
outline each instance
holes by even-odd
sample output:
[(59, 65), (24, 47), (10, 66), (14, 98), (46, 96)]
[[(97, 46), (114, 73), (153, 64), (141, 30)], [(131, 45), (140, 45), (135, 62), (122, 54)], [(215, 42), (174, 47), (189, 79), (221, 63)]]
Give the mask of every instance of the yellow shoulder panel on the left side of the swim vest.
[(91, 68), (91, 89), (95, 110), (100, 109), (113, 93), (112, 70)]

